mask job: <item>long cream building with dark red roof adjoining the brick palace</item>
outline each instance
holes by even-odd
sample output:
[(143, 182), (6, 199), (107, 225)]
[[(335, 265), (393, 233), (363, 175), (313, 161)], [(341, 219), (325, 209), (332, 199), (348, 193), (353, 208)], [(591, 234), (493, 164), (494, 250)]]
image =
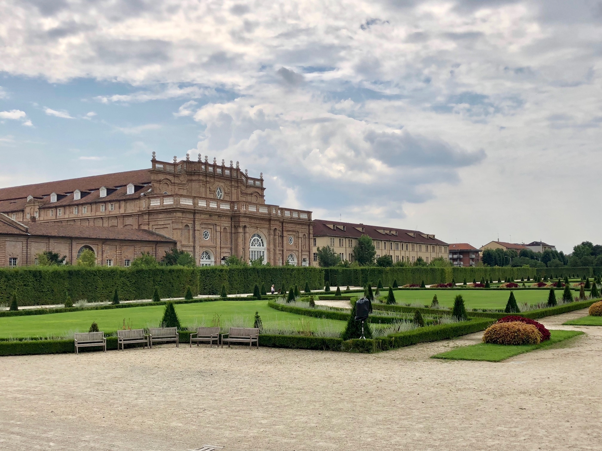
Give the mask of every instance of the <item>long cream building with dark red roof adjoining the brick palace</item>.
[(312, 265), (318, 266), (318, 247), (330, 246), (341, 260), (353, 260), (353, 247), (358, 238), (368, 235), (376, 248), (376, 258), (390, 255), (393, 262), (413, 263), (422, 257), (429, 263), (437, 257), (447, 258), (448, 244), (435, 238), (435, 235), (417, 230), (391, 229), (376, 225), (353, 224), (351, 222), (313, 221)]

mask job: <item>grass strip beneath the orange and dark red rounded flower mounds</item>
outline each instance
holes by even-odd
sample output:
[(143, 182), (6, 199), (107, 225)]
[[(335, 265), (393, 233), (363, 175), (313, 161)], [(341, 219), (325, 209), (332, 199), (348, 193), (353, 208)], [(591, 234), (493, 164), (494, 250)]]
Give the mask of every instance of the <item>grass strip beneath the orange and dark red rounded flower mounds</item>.
[(442, 358), (446, 360), (482, 360), (488, 362), (499, 362), (509, 357), (514, 357), (523, 352), (535, 351), (536, 349), (547, 348), (554, 343), (562, 342), (572, 337), (582, 335), (581, 331), (574, 330), (551, 330), (551, 338), (539, 345), (491, 345), (489, 343), (479, 343), (471, 346), (461, 346), (453, 351), (441, 352), (433, 355), (432, 358)]

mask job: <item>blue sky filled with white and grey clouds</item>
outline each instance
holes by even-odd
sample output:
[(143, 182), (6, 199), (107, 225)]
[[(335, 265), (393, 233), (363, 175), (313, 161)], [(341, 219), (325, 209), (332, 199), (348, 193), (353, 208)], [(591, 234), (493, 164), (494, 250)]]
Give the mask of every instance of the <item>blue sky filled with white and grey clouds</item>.
[(0, 186), (190, 152), (268, 203), (602, 243), (602, 3), (4, 0)]

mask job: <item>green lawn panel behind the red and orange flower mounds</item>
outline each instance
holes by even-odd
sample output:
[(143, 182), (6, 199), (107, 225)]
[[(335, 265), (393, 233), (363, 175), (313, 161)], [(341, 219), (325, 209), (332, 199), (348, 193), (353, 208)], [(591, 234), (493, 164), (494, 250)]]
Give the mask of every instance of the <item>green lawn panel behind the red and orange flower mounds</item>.
[[(433, 296), (437, 295), (439, 304), (444, 307), (453, 307), (453, 299), (462, 295), (466, 308), (504, 308), (510, 296), (509, 290), (453, 290), (453, 289), (427, 289), (427, 290), (394, 290), (398, 304), (430, 304)], [(548, 300), (549, 290), (517, 290), (514, 297), (518, 304), (527, 302), (535, 304)], [(383, 293), (386, 297), (386, 291)], [(556, 299), (562, 299), (562, 290), (556, 290)]]

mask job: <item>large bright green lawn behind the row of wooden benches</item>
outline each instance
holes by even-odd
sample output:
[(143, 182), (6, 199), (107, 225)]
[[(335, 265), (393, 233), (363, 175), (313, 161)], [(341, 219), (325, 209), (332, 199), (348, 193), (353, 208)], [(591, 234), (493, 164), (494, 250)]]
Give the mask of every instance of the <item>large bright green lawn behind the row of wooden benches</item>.
[[(93, 321), (100, 330), (116, 331), (125, 321), (132, 329), (157, 327), (163, 317), (163, 305), (115, 308), (111, 310), (73, 311), (32, 316), (0, 318), (0, 338), (64, 337), (73, 332), (87, 332)], [(311, 330), (326, 328), (342, 331), (344, 321), (311, 318), (267, 306), (267, 301), (215, 301), (175, 305), (182, 326), (211, 325), (215, 314), (220, 315), (222, 327), (253, 327), (255, 311), (259, 312), (264, 327), (299, 330), (301, 322)], [(204, 324), (203, 324), (204, 323)]]

